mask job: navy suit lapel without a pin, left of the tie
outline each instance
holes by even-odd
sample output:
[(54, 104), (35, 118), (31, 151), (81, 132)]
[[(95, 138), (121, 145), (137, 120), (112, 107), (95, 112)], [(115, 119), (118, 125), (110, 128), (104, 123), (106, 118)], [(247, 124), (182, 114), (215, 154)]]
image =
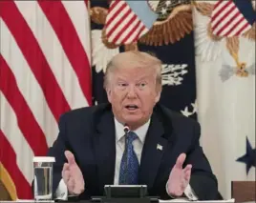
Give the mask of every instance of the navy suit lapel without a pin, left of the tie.
[(96, 125), (94, 138), (99, 188), (114, 183), (116, 163), (116, 131), (111, 110), (103, 112)]

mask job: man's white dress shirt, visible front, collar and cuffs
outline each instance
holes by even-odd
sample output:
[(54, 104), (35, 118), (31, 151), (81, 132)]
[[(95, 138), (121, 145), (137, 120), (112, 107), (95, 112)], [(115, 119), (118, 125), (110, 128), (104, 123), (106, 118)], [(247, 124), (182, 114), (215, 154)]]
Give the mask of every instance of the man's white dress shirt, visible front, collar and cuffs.
[[(146, 137), (146, 133), (147, 133), (149, 124), (150, 124), (150, 120), (148, 120), (143, 126), (139, 127), (139, 129), (134, 131), (139, 137), (138, 139), (133, 141), (134, 151), (137, 154), (139, 164), (140, 164), (141, 152), (143, 149), (143, 145), (145, 142), (145, 137)], [(118, 185), (120, 163), (121, 163), (122, 154), (124, 152), (125, 138), (124, 138), (123, 125), (121, 123), (119, 123), (116, 118), (115, 118), (115, 128), (116, 128), (116, 166), (115, 166), (114, 184)], [(168, 193), (167, 184), (168, 183), (166, 183), (166, 192)], [(190, 200), (198, 199), (197, 196), (195, 195), (195, 193), (192, 191), (189, 184), (186, 187), (184, 194)], [(63, 200), (67, 199), (67, 197), (68, 197), (67, 186), (65, 185), (63, 179), (60, 180), (60, 183), (56, 189), (55, 196), (57, 199), (63, 199)]]

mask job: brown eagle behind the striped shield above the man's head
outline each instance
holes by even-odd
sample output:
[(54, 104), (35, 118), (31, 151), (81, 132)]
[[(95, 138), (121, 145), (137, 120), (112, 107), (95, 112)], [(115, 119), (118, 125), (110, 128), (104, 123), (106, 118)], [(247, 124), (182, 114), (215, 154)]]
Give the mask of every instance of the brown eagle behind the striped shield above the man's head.
[[(139, 38), (139, 43), (151, 46), (173, 44), (193, 30), (190, 0), (152, 0), (148, 1), (148, 4), (159, 17), (151, 30)], [(94, 23), (104, 25), (108, 10), (101, 7), (93, 7), (90, 10), (90, 14)], [(107, 42), (104, 29), (102, 30), (101, 38), (109, 49), (120, 46)], [(126, 45), (125, 48), (126, 50), (138, 49), (137, 43)]]

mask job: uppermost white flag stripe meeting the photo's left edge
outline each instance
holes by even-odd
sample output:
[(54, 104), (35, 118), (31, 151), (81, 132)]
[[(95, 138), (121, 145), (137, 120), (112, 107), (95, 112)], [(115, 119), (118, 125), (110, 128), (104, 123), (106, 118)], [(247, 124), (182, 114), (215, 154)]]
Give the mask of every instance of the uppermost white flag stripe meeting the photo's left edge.
[[(0, 26), (0, 34), (2, 36), (0, 43), (2, 48), (5, 48), (1, 49), (3, 58), (9, 65), (11, 72), (15, 77), (16, 81), (14, 82), (17, 83), (18, 90), (26, 100), (36, 122), (40, 126), (40, 129), (42, 129), (47, 137), (46, 140), (48, 146), (51, 146), (58, 132), (56, 120), (47, 104), (41, 87), (37, 83), (22, 52), (19, 50), (10, 30), (8, 30), (6, 24), (2, 20), (0, 20)], [(13, 60), (13, 58), (15, 58), (15, 60)], [(8, 75), (5, 75), (4, 77), (3, 74), (3, 81), (5, 81), (4, 78), (8, 78)], [(11, 83), (11, 81), (8, 82)], [(13, 94), (11, 90), (9, 91)], [(38, 107), (41, 107), (44, 112), (42, 113), (42, 109)]]

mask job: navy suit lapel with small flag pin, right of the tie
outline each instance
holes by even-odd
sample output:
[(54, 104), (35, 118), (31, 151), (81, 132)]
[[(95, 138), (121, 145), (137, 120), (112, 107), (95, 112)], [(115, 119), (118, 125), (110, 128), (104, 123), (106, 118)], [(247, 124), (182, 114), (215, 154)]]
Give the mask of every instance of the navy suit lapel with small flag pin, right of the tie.
[(163, 135), (164, 130), (160, 120), (153, 113), (142, 150), (139, 169), (139, 184), (146, 184), (148, 189), (153, 186), (160, 167), (161, 156), (168, 143)]

